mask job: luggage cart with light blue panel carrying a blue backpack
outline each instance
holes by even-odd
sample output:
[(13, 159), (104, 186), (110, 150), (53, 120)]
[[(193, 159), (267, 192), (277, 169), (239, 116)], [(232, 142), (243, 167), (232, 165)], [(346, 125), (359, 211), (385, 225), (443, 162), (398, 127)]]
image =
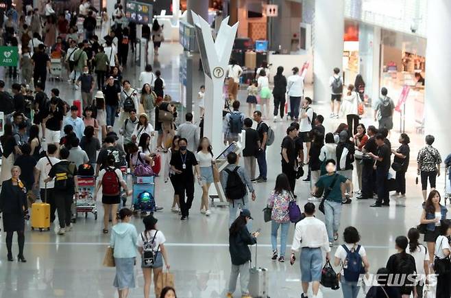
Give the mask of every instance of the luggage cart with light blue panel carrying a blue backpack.
[[(154, 176), (132, 176), (132, 188), (133, 213), (138, 214), (138, 211), (141, 211), (141, 216), (146, 216), (147, 212), (153, 214), (156, 211)], [(139, 198), (142, 198), (143, 196), (150, 201), (146, 209), (143, 209), (139, 200)]]

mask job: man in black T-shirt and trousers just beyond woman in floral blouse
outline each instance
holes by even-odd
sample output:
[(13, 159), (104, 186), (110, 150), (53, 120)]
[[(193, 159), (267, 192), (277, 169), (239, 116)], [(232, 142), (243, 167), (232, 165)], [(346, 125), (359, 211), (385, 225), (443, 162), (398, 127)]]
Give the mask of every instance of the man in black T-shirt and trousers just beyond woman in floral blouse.
[(282, 173), (286, 174), (290, 183), (291, 191), (294, 193), (296, 185), (295, 163), (297, 152), (295, 149), (294, 139), (297, 135), (295, 127), (287, 128), (287, 136), (282, 140)]

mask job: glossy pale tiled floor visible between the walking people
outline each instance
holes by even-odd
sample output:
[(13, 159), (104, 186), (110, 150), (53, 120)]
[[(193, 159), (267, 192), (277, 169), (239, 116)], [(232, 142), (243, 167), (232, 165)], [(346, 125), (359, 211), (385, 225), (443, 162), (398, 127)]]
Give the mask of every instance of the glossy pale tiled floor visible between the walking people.
[[(168, 89), (178, 90), (178, 45), (164, 44), (162, 54), (158, 57), (163, 77)], [(125, 71), (125, 78), (137, 81), (139, 70), (132, 66)], [(77, 91), (68, 88), (66, 82), (50, 82), (49, 89), (56, 86), (62, 90), (62, 97), (71, 100), (77, 97)], [(195, 87), (197, 88), (197, 87)], [(311, 88), (308, 88), (310, 91)], [(311, 93), (311, 91), (310, 91)], [(244, 94), (241, 95), (244, 97)], [(317, 112), (329, 114), (329, 106), (319, 103), (315, 106)], [(369, 124), (369, 119), (363, 119)], [(289, 262), (280, 264), (271, 262), (269, 256), (270, 232), (269, 223), (263, 222), (261, 210), (266, 205), (267, 195), (274, 185), (276, 175), (280, 172), (280, 141), (287, 127), (286, 121), (274, 125), (276, 142), (268, 149), (269, 179), (267, 183), (256, 186), (257, 200), (249, 205), (254, 221), (254, 229), (261, 227), (262, 235), (258, 239), (258, 266), (269, 269), (270, 297), (287, 298), (300, 297), (300, 268), (299, 262), (290, 266)], [(326, 129), (332, 130), (339, 120), (326, 120)], [(398, 133), (392, 135), (395, 146)], [(442, 136), (436, 136), (442, 137)], [(420, 146), (419, 137), (413, 137), (411, 157), (416, 157)], [(218, 151), (218, 150), (217, 150)], [(414, 161), (407, 175), (408, 192), (406, 207), (390, 207), (371, 209), (371, 201), (353, 200), (351, 205), (343, 207), (341, 229), (348, 225), (358, 228), (362, 236), (362, 244), (367, 249), (370, 271), (385, 266), (385, 262), (394, 252), (396, 236), (406, 234), (406, 231), (417, 225), (421, 214), (421, 191), (415, 185)], [(439, 190), (443, 188), (443, 179), (439, 179)], [(300, 205), (306, 203), (308, 197), (308, 183), (297, 181), (297, 195)], [(175, 286), (178, 297), (224, 297), (230, 273), (230, 256), (228, 253), (228, 209), (213, 207), (212, 215), (207, 218), (199, 214), (199, 187), (196, 189), (195, 202), (187, 222), (180, 222), (179, 216), (171, 213), (172, 187), (157, 179), (156, 198), (158, 205), (164, 207), (156, 214), (158, 228), (167, 238), (171, 271), (175, 274)], [(99, 205), (99, 219), (103, 215)], [(318, 215), (323, 219), (321, 214)], [(134, 219), (138, 230), (143, 229), (141, 220)], [(28, 262), (6, 262), (4, 234), (0, 235), (0, 297), (117, 297), (112, 287), (114, 269), (101, 266), (103, 253), (109, 241), (108, 236), (101, 233), (101, 220), (94, 220), (92, 215), (80, 218), (73, 231), (66, 236), (56, 236), (53, 231), (30, 231), (27, 227), (25, 256)], [(289, 244), (293, 236), (293, 226), (289, 231)], [(14, 238), (15, 240), (15, 238)], [(14, 244), (14, 249), (16, 245)], [(253, 248), (254, 249), (254, 248)], [(335, 249), (332, 249), (332, 252)], [(130, 297), (143, 297), (143, 275), (136, 266), (137, 288), (133, 289)], [(341, 290), (321, 288), (323, 297), (342, 297)], [(153, 295), (151, 295), (153, 297)], [(239, 293), (236, 293), (239, 297)], [(363, 297), (361, 293), (361, 297)]]

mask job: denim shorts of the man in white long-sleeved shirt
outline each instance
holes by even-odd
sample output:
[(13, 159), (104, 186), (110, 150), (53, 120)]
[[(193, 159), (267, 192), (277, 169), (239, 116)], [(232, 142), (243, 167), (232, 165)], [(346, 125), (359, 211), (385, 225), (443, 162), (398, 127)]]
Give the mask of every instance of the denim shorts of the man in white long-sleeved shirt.
[(303, 247), (299, 257), (302, 282), (318, 282), (321, 280), (323, 254), (320, 248)]

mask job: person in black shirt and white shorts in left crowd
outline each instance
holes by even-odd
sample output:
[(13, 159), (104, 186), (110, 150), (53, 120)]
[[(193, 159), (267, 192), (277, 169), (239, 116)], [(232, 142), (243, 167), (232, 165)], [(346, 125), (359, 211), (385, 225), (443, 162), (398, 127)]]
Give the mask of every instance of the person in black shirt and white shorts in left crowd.
[(49, 108), (41, 112), (42, 137), (45, 137), (47, 144), (55, 144), (58, 148), (63, 117), (63, 112), (58, 107), (58, 98), (51, 98)]

